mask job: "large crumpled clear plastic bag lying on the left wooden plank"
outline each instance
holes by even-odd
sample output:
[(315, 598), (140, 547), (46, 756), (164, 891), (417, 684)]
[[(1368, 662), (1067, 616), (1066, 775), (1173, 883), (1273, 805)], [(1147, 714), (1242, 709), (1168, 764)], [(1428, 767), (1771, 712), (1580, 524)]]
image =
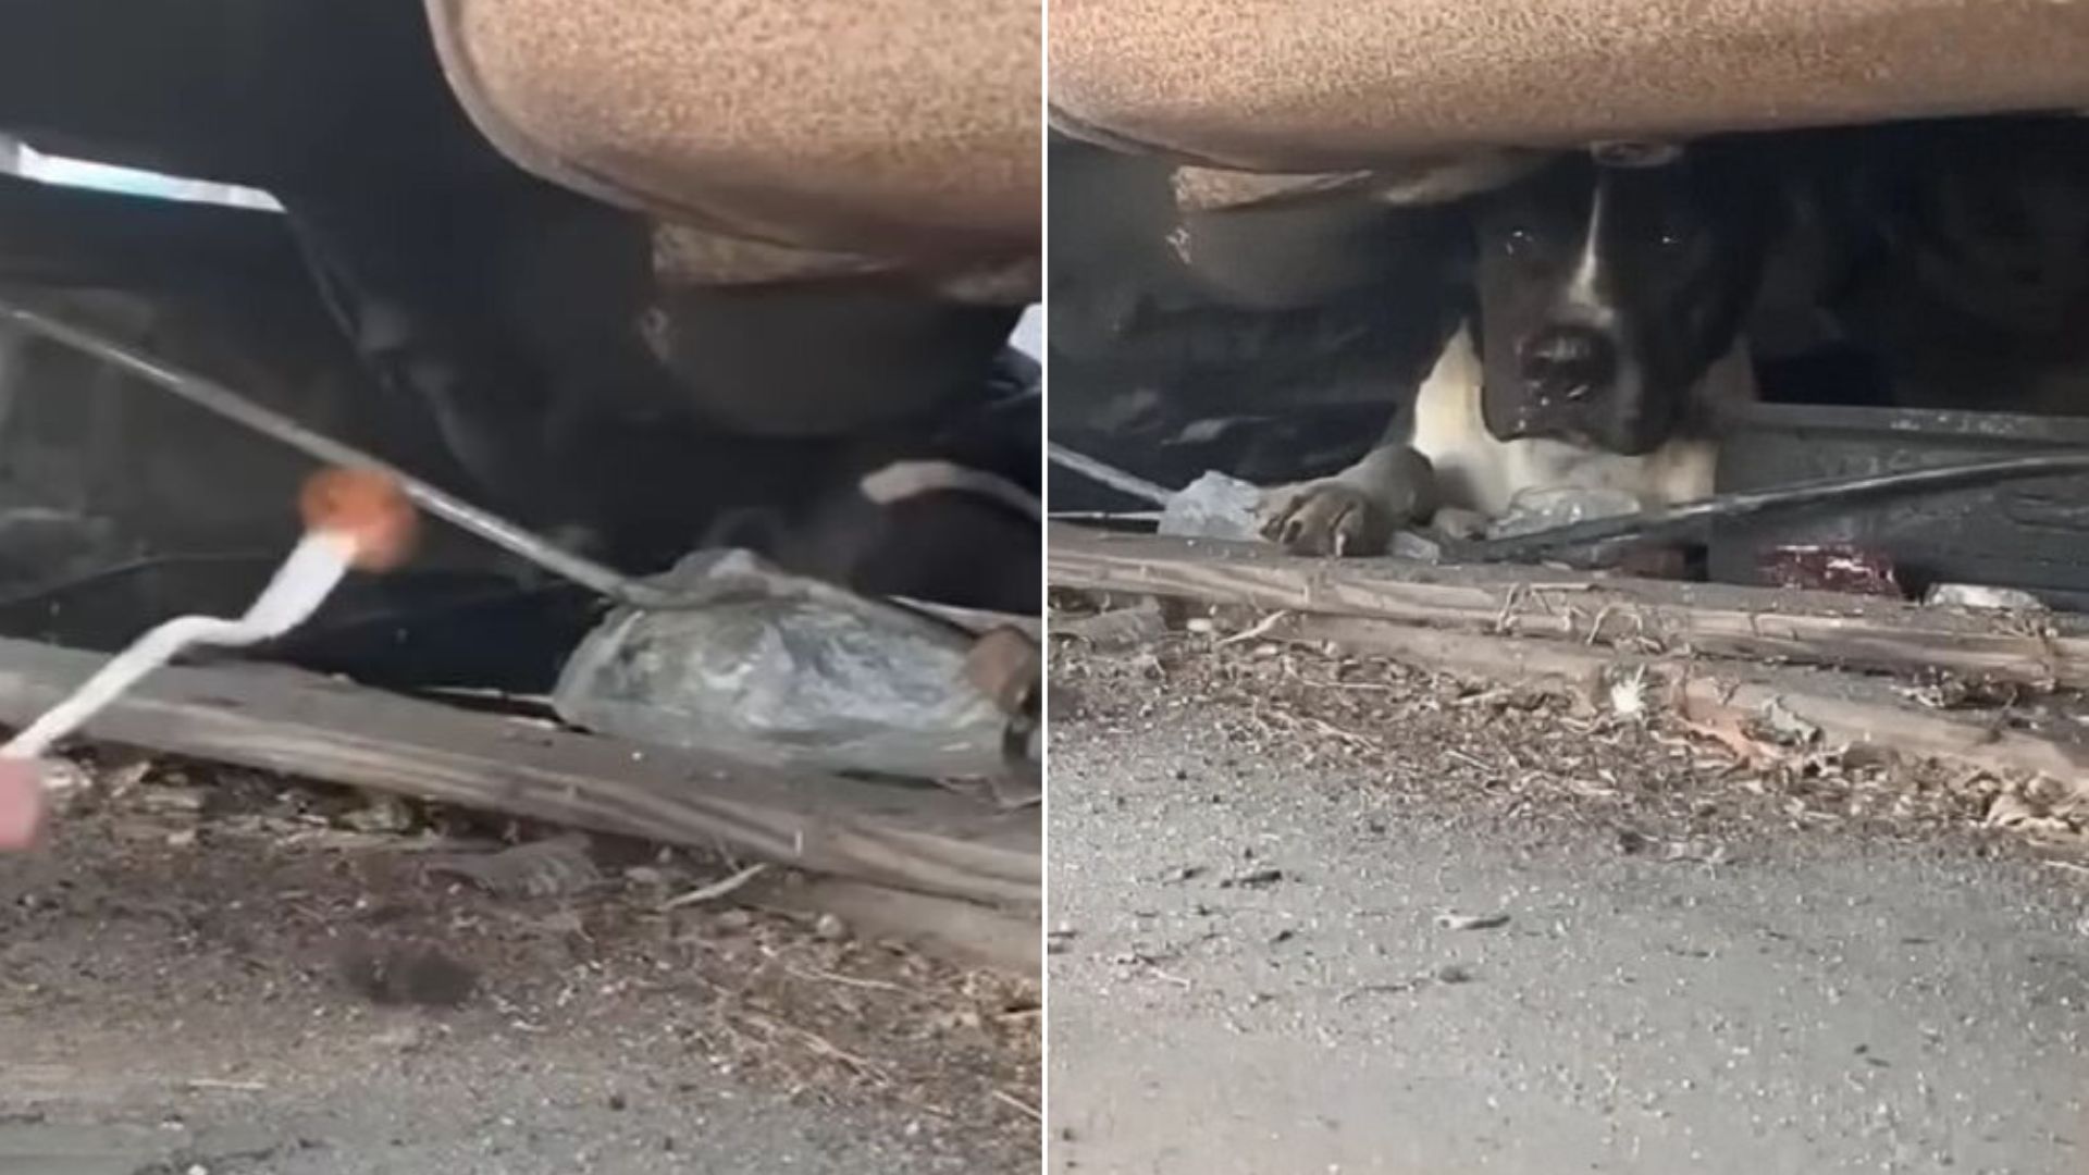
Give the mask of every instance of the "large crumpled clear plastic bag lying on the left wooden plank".
[(923, 780), (1003, 771), (1007, 715), (965, 675), (969, 636), (882, 600), (698, 552), (652, 579), (700, 608), (618, 608), (566, 661), (568, 723), (773, 767)]

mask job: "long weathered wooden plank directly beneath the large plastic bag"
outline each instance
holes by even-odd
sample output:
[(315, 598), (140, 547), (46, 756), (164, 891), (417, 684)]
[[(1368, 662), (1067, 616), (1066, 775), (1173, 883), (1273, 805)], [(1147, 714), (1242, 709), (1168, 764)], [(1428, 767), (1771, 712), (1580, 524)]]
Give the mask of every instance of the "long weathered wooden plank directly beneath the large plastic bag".
[[(0, 723), (100, 656), (0, 640)], [(163, 669), (88, 738), (714, 849), (965, 901), (1042, 903), (1034, 811), (526, 725), (263, 665)]]

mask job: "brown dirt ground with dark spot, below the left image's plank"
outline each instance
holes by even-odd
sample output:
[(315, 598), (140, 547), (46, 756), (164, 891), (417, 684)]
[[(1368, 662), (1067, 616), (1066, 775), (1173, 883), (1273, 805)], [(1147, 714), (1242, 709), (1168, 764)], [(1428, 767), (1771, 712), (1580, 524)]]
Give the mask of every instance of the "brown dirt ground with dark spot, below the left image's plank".
[(4, 1175), (1036, 1171), (1034, 985), (671, 907), (731, 861), (92, 774), (0, 859)]

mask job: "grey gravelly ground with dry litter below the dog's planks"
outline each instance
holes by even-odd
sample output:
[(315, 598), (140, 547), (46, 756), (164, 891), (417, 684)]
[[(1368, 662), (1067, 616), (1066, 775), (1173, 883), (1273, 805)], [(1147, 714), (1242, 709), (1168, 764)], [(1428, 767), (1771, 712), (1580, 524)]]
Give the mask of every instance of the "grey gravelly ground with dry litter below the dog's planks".
[(1053, 1171), (2089, 1167), (2089, 859), (2028, 782), (1118, 644), (1053, 648)]

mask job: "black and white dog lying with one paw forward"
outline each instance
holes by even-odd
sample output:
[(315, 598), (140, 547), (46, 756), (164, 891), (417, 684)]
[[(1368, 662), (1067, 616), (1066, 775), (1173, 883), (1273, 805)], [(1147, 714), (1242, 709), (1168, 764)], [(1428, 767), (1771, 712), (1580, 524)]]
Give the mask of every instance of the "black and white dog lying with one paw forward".
[(1471, 205), (1469, 312), (1385, 437), (1264, 496), (1301, 554), (1500, 516), (1533, 487), (1711, 493), (1717, 401), (1751, 397), (1744, 322), (1786, 192), (1748, 140), (1611, 146)]

